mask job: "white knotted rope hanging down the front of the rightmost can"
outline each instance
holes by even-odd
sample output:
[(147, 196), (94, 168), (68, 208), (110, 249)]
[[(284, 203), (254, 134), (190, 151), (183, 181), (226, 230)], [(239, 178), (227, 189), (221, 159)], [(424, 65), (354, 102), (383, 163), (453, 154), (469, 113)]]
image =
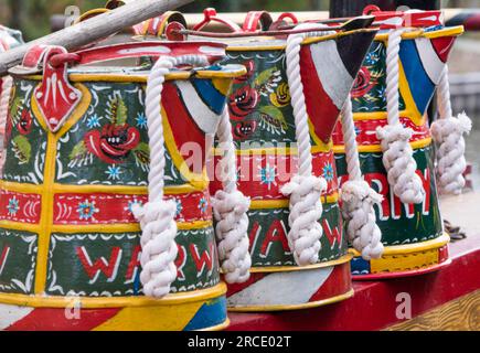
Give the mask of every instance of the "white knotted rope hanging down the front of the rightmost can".
[(388, 35), (386, 50), (386, 98), (388, 125), (376, 129), (383, 151), (383, 164), (387, 172), (390, 185), (403, 203), (422, 203), (425, 190), (422, 179), (416, 174), (417, 162), (409, 145), (413, 131), (405, 128), (399, 120), (398, 53), (402, 33), (393, 30)]

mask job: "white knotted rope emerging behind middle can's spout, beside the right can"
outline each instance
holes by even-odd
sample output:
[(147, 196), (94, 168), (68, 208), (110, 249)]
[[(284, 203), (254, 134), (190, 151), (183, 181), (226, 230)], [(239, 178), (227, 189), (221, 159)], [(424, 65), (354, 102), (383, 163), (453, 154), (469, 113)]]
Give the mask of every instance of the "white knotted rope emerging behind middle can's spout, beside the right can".
[(349, 173), (349, 180), (341, 190), (342, 214), (349, 224), (346, 233), (352, 246), (365, 260), (380, 258), (383, 254), (382, 232), (376, 224), (373, 205), (382, 202), (383, 197), (362, 176), (350, 96), (341, 116)]

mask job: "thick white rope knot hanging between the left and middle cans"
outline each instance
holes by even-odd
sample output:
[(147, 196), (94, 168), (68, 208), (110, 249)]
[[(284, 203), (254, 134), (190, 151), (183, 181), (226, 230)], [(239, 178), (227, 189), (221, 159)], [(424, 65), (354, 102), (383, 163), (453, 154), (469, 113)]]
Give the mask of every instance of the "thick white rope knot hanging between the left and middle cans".
[(248, 215), (250, 205), (238, 190), (225, 192), (218, 190), (212, 200), (213, 214), (216, 220), (216, 238), (218, 257), (225, 280), (228, 284), (241, 284), (249, 278), (252, 258), (249, 255)]

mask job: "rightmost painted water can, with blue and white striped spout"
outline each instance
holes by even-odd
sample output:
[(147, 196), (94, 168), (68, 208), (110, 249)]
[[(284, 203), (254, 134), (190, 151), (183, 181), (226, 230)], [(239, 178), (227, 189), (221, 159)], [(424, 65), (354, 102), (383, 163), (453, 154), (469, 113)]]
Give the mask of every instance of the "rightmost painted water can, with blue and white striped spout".
[[(445, 28), (440, 22), (440, 12), (434, 12), (434, 15), (431, 11), (412, 12), (414, 21), (419, 21), (424, 28), (407, 25), (378, 32), (351, 90), (361, 169), (365, 181), (383, 195), (381, 204), (375, 205), (375, 213), (385, 246), (381, 258), (370, 260), (361, 258), (353, 250), (355, 257), (351, 266), (354, 279), (419, 275), (449, 264), (449, 237), (444, 232), (438, 204), (435, 148), (426, 113), (455, 39), (462, 33), (462, 28)], [(377, 21), (394, 23), (392, 19), (396, 15), (404, 20), (412, 14), (381, 13)], [(412, 21), (412, 18), (408, 19)], [(396, 41), (393, 35), (396, 35)], [(398, 73), (397, 78), (393, 79), (398, 88), (391, 93), (387, 87), (390, 45), (397, 45), (397, 53), (392, 47), (392, 63), (397, 63)], [(419, 178), (423, 188), (415, 203), (401, 201), (383, 162), (385, 153), (377, 129), (391, 124), (391, 96), (398, 101), (392, 104), (392, 110), (398, 107), (401, 126), (413, 131), (406, 143), (410, 146), (416, 163), (413, 174)], [(343, 143), (339, 124), (333, 132), (333, 149), (340, 183), (348, 178)], [(401, 175), (405, 173), (406, 170)]]

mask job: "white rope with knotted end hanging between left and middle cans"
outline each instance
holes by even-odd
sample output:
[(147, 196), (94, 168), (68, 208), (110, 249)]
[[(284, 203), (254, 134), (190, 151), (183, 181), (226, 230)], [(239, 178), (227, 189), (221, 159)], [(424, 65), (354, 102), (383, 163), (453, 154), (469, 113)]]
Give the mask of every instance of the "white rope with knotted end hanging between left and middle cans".
[(249, 278), (252, 267), (247, 215), (250, 200), (237, 190), (236, 151), (227, 108), (222, 114), (216, 135), (218, 149), (223, 150), (220, 161), (223, 190), (218, 190), (213, 199), (218, 257), (225, 280), (239, 284)]

